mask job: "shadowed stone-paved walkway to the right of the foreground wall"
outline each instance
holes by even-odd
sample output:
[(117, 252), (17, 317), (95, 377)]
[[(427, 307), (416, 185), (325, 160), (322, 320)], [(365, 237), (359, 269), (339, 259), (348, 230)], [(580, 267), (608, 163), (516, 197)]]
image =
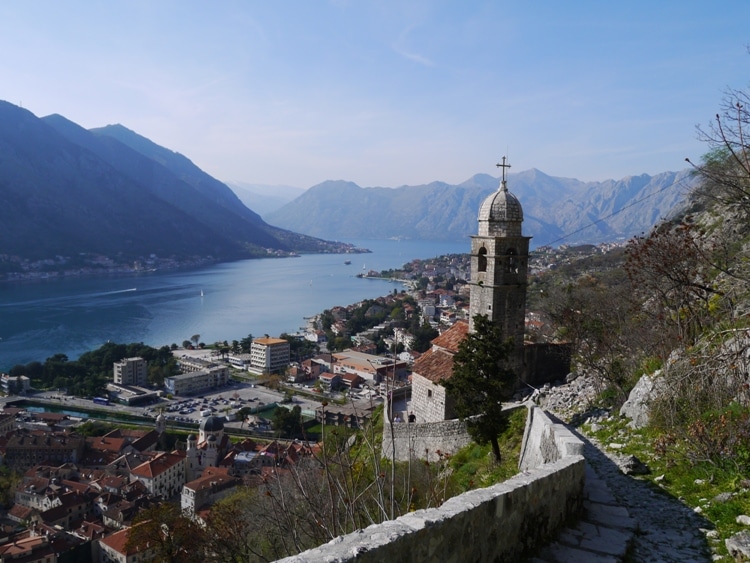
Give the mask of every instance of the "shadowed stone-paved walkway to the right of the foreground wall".
[(532, 563), (712, 560), (701, 531), (710, 523), (650, 483), (623, 474), (592, 440), (576, 434), (586, 443), (583, 514)]

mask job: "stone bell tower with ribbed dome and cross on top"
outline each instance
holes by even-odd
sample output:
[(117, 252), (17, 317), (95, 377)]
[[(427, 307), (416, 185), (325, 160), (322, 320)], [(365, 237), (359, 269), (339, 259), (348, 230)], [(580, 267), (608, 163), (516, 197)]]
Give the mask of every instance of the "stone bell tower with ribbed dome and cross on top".
[(510, 164), (503, 157), (497, 166), (503, 169), (500, 186), (482, 202), (479, 233), (471, 237), (469, 331), (474, 331), (475, 315), (487, 315), (499, 324), (506, 337), (513, 337), (515, 357), (510, 367), (520, 376), (531, 237), (521, 233), (523, 209), (506, 185)]

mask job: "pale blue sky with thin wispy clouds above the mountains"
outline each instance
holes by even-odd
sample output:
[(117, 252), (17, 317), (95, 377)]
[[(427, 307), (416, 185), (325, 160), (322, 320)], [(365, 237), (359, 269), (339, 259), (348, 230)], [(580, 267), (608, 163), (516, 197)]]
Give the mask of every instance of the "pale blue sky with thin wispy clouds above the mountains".
[(224, 182), (585, 181), (699, 160), (750, 2), (0, 2), (0, 99), (119, 123)]

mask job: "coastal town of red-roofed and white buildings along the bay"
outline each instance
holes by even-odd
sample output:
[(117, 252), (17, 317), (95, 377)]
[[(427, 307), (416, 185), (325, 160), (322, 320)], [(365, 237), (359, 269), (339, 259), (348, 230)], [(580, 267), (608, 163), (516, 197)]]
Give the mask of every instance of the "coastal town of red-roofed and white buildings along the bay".
[[(531, 268), (544, 275), (605, 250), (539, 249)], [(0, 453), (12, 486), (0, 557), (141, 561), (128, 543), (139, 511), (169, 501), (205, 524), (217, 501), (314, 458), (321, 428), (360, 428), (387, 397), (394, 423), (416, 421), (411, 366), (467, 320), (469, 272), (468, 255), (368, 272), (403, 285), (306, 319), (299, 334), (253, 338), (249, 349), (186, 340), (171, 350), (178, 373), (158, 388), (140, 357), (113, 362), (106, 391), (89, 398), (37, 390), (18, 369), (2, 374)], [(543, 323), (527, 312), (527, 333)], [(279, 411), (298, 413), (309, 434), (285, 435)], [(94, 419), (99, 431), (85, 431)]]

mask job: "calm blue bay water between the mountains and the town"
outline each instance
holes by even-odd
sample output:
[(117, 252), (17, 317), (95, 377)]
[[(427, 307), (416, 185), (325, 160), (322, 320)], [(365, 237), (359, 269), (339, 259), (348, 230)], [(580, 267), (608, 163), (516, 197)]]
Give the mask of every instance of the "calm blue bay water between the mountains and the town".
[[(414, 258), (464, 253), (470, 242), (352, 241), (372, 254), (245, 260), (200, 270), (127, 277), (0, 284), (0, 371), (75, 359), (108, 340), (151, 346), (232, 341), (248, 334), (293, 333), (335, 305), (401, 286), (356, 276), (363, 267), (398, 268)], [(346, 258), (352, 264), (344, 264)], [(201, 297), (203, 291), (203, 297)]]

